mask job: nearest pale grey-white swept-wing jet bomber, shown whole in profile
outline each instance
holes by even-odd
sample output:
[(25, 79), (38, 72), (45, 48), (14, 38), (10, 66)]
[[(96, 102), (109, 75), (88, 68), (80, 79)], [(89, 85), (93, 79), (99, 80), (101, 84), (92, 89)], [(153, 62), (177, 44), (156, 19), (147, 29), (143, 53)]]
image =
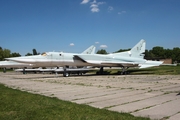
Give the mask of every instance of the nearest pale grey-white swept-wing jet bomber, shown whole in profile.
[(36, 56), (6, 58), (11, 61), (35, 64), (38, 66), (63, 67), (64, 77), (69, 76), (66, 71), (68, 66), (95, 66), (100, 67), (99, 73), (103, 73), (103, 67), (121, 67), (121, 74), (125, 74), (129, 67), (147, 68), (159, 66), (161, 61), (148, 61), (144, 59), (146, 42), (140, 40), (131, 50), (107, 55), (101, 54), (76, 54), (46, 52)]

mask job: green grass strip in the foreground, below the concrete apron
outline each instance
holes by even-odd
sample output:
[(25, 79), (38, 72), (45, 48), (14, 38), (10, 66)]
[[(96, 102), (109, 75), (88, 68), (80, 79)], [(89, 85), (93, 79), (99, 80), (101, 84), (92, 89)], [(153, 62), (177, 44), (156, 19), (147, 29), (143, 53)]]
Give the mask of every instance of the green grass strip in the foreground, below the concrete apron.
[(11, 89), (0, 84), (0, 120), (149, 120), (149, 118), (79, 105)]

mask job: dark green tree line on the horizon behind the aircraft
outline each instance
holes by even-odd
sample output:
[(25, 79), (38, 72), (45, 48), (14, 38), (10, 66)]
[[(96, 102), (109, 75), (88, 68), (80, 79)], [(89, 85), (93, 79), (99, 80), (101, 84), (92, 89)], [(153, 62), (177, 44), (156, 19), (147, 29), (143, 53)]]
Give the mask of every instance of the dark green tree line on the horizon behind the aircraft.
[[(114, 53), (117, 52), (123, 52), (123, 51), (128, 51), (130, 49), (120, 49), (118, 51), (115, 51)], [(108, 52), (105, 49), (98, 50), (96, 52), (97, 54), (108, 54)], [(32, 53), (27, 53), (25, 56), (30, 56), (30, 55), (38, 55), (36, 49), (32, 49)], [(3, 49), (0, 47), (0, 61), (3, 61), (4, 58), (9, 58), (9, 57), (19, 57), (21, 56), (17, 52), (11, 53), (9, 49)], [(180, 63), (180, 48), (175, 47), (173, 49), (164, 49), (163, 47), (156, 46), (153, 47), (151, 50), (145, 50), (145, 59), (167, 59), (171, 58), (173, 63), (177, 62)]]

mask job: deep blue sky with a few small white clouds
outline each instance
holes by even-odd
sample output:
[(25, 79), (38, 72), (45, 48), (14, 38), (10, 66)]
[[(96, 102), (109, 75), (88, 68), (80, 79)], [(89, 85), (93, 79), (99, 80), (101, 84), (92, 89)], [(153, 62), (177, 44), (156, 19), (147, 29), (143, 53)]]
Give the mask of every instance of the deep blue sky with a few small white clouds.
[(180, 0), (0, 0), (0, 47), (25, 55), (180, 47)]

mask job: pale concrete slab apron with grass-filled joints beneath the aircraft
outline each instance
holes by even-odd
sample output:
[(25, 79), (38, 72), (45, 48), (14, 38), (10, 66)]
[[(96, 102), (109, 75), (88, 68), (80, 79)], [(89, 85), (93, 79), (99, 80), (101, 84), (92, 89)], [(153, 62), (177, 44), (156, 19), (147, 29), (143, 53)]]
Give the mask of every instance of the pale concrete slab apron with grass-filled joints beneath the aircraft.
[(0, 83), (151, 119), (180, 119), (180, 75), (71, 76), (0, 73)]

